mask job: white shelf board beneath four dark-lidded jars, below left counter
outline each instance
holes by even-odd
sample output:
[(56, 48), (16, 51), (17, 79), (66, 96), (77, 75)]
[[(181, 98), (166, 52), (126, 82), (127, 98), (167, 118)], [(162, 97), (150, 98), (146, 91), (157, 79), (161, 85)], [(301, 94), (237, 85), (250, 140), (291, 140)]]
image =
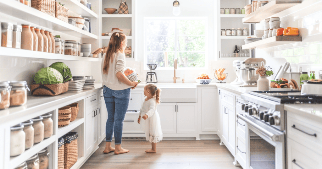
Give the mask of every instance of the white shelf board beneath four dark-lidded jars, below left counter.
[(15, 156), (15, 157), (10, 157), (10, 163), (9, 163), (9, 168), (14, 169), (17, 167), (19, 164), (23, 163), (26, 161), (28, 158), (31, 156), (35, 155), (42, 149), (46, 148), (50, 144), (52, 144), (56, 140), (56, 136), (53, 135), (49, 138), (44, 139), (42, 142), (34, 144), (32, 147), (30, 147), (28, 150), (25, 150), (21, 155)]

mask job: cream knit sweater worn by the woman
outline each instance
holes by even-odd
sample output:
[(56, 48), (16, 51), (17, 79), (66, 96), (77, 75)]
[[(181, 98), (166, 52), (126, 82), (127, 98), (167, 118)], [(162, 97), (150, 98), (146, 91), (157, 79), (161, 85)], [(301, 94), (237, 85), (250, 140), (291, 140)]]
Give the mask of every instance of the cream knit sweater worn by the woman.
[[(103, 55), (102, 64), (101, 64), (101, 72), (102, 72), (102, 79), (103, 84), (102, 86), (106, 86), (112, 90), (124, 90), (131, 88), (133, 86), (129, 86), (124, 84), (123, 82), (119, 81), (116, 77), (117, 72), (122, 72), (124, 74), (125, 68), (125, 56), (123, 53), (115, 53), (113, 62), (109, 62), (109, 70), (107, 74), (103, 73), (103, 64), (105, 60), (106, 53)], [(125, 74), (124, 74), (125, 75)]]

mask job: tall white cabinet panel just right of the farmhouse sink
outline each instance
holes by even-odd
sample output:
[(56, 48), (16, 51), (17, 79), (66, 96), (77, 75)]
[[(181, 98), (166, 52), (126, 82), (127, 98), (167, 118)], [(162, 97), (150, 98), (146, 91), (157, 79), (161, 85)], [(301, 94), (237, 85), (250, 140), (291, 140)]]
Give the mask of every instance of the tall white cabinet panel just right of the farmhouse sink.
[(201, 89), (201, 131), (217, 131), (217, 89)]

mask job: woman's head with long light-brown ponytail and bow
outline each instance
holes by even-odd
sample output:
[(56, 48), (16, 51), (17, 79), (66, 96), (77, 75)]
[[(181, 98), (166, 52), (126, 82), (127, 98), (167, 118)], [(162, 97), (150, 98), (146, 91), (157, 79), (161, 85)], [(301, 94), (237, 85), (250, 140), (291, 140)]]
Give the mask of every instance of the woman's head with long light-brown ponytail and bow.
[(123, 52), (122, 42), (126, 40), (123, 33), (114, 32), (109, 40), (109, 46), (104, 59), (103, 73), (107, 74), (109, 71), (109, 61), (113, 63), (114, 55), (116, 52)]

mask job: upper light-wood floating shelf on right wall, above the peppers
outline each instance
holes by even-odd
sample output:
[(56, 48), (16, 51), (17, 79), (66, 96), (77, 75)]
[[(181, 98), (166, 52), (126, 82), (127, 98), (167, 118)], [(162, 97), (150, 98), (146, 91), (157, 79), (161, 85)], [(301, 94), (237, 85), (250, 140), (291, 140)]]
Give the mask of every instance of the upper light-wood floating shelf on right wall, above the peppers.
[(242, 19), (243, 23), (260, 23), (260, 21), (270, 16), (284, 11), (292, 6), (301, 4), (302, 1), (270, 1), (268, 4), (261, 6), (256, 11)]

